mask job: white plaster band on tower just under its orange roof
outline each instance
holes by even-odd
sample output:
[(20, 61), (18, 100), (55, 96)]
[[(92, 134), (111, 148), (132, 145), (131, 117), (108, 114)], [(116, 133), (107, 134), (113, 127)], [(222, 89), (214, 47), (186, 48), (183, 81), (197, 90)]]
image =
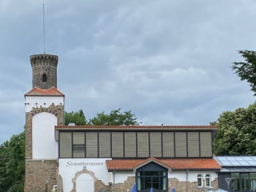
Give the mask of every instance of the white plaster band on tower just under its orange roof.
[(64, 105), (63, 96), (26, 96), (25, 108), (26, 112), (30, 112), (34, 108), (49, 107), (54, 103), (55, 106)]

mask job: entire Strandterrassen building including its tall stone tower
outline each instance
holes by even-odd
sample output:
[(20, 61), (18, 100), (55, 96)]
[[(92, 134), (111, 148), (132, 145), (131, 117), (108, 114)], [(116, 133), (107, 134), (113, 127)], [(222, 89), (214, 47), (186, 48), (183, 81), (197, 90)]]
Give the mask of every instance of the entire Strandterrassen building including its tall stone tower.
[(205, 191), (218, 188), (217, 126), (64, 126), (58, 56), (30, 56), (26, 192)]

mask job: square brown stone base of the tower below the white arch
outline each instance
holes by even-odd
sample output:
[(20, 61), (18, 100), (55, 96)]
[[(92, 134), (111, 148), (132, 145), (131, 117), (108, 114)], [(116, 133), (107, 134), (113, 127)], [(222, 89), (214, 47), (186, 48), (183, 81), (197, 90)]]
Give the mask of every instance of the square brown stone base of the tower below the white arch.
[(51, 191), (57, 184), (57, 160), (28, 160), (26, 159), (26, 174), (24, 192)]

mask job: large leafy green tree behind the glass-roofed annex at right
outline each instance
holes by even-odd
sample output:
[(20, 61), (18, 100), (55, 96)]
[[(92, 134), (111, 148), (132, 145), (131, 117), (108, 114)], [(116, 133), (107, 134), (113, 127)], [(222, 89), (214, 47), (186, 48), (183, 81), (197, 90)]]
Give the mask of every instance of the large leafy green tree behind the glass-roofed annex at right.
[(256, 102), (248, 108), (223, 112), (217, 124), (215, 155), (256, 154)]

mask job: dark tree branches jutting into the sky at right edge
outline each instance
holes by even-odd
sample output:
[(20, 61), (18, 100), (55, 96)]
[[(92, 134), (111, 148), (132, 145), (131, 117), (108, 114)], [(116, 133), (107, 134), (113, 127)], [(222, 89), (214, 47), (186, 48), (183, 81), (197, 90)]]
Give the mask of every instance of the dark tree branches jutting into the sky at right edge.
[(241, 78), (242, 81), (246, 80), (250, 83), (251, 90), (256, 95), (256, 51), (254, 50), (239, 50), (242, 58), (246, 62), (234, 62), (232, 70)]

